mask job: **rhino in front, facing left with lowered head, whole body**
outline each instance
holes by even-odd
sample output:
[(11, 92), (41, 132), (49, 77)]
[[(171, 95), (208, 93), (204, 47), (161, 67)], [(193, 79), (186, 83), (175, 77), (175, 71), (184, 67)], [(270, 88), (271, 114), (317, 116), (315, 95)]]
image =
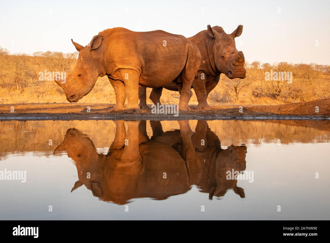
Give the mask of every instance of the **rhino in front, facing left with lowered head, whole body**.
[(180, 77), (179, 110), (190, 110), (191, 84), (198, 71), (198, 48), (182, 35), (162, 30), (134, 32), (125, 28), (106, 29), (79, 52), (76, 67), (61, 86), (70, 102), (77, 102), (94, 87), (99, 76), (108, 76), (116, 93), (116, 105), (110, 111), (141, 112), (139, 85), (162, 87)]

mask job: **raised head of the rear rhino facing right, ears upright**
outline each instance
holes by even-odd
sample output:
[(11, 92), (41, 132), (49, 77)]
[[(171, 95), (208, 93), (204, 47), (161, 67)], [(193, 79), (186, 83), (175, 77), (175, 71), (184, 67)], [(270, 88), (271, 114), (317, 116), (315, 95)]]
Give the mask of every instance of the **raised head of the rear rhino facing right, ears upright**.
[(244, 54), (236, 49), (235, 39), (243, 31), (243, 25), (239, 25), (231, 34), (226, 34), (221, 27), (220, 33), (210, 25), (207, 26), (208, 46), (212, 46), (210, 52), (214, 56), (216, 69), (224, 73), (228, 78), (245, 78)]

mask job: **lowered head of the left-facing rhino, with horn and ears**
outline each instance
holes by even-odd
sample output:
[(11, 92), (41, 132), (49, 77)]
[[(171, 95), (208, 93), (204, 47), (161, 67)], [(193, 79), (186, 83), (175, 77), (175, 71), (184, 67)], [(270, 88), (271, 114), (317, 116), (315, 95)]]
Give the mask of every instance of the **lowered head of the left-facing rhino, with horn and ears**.
[(71, 41), (79, 52), (76, 67), (66, 77), (65, 83), (55, 82), (64, 90), (69, 102), (77, 102), (93, 89), (99, 76), (104, 76), (104, 48), (100, 48), (103, 36), (95, 35), (85, 47)]

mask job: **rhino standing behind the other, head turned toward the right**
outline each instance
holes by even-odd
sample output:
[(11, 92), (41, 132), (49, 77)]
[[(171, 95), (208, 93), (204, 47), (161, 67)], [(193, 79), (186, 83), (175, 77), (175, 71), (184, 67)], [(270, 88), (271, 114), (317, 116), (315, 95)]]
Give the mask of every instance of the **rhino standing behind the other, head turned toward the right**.
[[(208, 25), (207, 30), (188, 38), (198, 47), (202, 56), (197, 79), (192, 83), (198, 101), (197, 109), (211, 109), (206, 100), (219, 82), (221, 73), (230, 79), (246, 77), (244, 55), (243, 52), (236, 49), (234, 40), (242, 34), (242, 31), (242, 25), (239, 25), (231, 34), (226, 34), (222, 27), (214, 26), (211, 28)], [(151, 101), (154, 104), (160, 103), (159, 99), (163, 88), (179, 91), (176, 83), (177, 81), (173, 81), (163, 87), (153, 88), (150, 93)], [(148, 109), (146, 87), (139, 87), (139, 99), (140, 107)]]

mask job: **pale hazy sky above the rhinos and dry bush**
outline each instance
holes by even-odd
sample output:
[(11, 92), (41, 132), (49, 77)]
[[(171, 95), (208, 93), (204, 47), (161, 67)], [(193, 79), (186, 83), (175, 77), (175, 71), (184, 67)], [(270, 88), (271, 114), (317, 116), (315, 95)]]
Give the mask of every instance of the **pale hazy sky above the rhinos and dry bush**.
[(75, 52), (107, 28), (165, 30), (185, 37), (239, 24), (246, 61), (330, 64), (329, 0), (2, 1), (0, 47), (11, 53)]

